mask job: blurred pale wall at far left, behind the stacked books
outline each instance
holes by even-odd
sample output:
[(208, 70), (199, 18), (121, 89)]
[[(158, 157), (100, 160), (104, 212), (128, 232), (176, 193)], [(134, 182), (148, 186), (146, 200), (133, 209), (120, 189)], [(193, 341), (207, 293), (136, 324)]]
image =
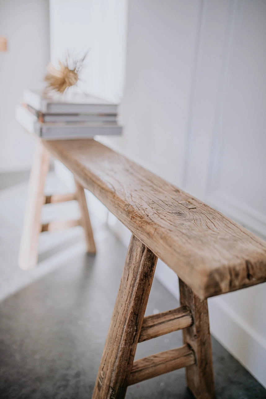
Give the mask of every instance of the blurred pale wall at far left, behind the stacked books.
[(49, 1), (0, 0), (0, 172), (30, 169), (33, 140), (15, 120), (23, 90), (40, 85), (49, 61)]

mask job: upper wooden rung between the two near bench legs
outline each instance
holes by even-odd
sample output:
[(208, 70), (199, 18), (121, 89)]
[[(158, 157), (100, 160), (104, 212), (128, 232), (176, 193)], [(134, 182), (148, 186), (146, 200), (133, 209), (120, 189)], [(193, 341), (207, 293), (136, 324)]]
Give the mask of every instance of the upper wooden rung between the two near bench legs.
[(150, 340), (169, 332), (182, 330), (193, 324), (191, 312), (187, 306), (168, 310), (144, 317), (138, 342)]

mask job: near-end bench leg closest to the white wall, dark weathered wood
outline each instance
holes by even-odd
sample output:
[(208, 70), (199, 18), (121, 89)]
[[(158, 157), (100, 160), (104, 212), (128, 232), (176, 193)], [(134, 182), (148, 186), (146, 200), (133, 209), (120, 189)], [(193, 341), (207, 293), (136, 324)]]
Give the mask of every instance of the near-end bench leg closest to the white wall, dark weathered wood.
[(189, 307), (193, 325), (183, 330), (184, 344), (195, 353), (196, 363), (186, 367), (187, 387), (196, 399), (213, 399), (214, 379), (207, 300), (200, 300), (179, 279), (180, 305)]

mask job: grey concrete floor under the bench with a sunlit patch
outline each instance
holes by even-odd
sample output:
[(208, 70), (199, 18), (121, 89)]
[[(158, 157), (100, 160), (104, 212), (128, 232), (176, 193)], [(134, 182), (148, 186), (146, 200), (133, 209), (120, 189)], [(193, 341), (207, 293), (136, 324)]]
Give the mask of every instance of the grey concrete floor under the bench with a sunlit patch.
[[(0, 398), (90, 398), (126, 249), (92, 215), (96, 256), (85, 254), (80, 227), (43, 233), (39, 265), (20, 271), (16, 257), (26, 176), (2, 176), (0, 192)], [(155, 279), (146, 314), (177, 306)], [(215, 339), (212, 344), (217, 399), (266, 398), (238, 361)], [(139, 344), (136, 358), (180, 345), (180, 332), (167, 334)], [(128, 387), (126, 394), (128, 399), (192, 397), (183, 369)]]

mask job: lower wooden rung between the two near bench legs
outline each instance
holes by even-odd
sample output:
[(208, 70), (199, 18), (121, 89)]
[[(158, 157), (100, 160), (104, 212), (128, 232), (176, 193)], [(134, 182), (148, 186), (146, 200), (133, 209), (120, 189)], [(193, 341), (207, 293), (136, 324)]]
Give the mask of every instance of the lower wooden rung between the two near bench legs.
[(195, 364), (195, 356), (187, 344), (180, 348), (160, 352), (134, 361), (128, 385), (133, 385), (192, 364)]

